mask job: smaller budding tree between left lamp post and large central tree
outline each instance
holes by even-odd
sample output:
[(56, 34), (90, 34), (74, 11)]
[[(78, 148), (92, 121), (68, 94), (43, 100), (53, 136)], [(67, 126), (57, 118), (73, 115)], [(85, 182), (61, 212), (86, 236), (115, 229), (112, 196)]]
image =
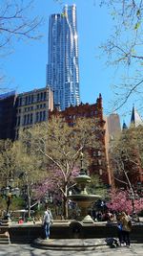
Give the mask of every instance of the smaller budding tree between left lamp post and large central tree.
[(36, 158), (35, 154), (30, 153), (29, 147), (25, 147), (21, 141), (16, 141), (14, 144), (16, 149), (15, 164), (18, 170), (19, 186), (22, 197), (25, 199), (26, 206), (28, 207), (28, 215), (31, 217), (33, 201), (33, 204), (35, 204), (34, 186), (43, 178), (43, 163), (40, 158)]

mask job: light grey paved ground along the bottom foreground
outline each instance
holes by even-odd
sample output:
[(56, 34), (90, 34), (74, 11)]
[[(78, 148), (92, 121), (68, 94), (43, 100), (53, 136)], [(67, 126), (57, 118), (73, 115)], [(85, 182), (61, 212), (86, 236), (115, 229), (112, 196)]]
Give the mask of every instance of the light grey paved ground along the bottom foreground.
[(143, 244), (128, 247), (95, 247), (92, 250), (45, 250), (31, 247), (30, 244), (0, 245), (0, 256), (143, 256)]

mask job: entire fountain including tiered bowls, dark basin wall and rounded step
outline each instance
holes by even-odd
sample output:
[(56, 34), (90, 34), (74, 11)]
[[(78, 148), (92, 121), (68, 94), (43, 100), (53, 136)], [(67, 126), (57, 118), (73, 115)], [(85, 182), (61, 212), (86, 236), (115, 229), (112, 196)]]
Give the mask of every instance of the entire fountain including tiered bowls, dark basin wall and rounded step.
[[(77, 219), (74, 220), (54, 220), (51, 225), (51, 239), (46, 241), (43, 238), (43, 228), (40, 224), (32, 224), (29, 226), (21, 225), (21, 228), (13, 226), (10, 228), (10, 238), (15, 241), (21, 242), (28, 240), (29, 243), (33, 241), (34, 246), (45, 247), (45, 248), (55, 248), (61, 247), (65, 249), (70, 249), (71, 247), (75, 249), (81, 247), (95, 246), (95, 244), (105, 244), (104, 239), (101, 239), (103, 230), (98, 229), (98, 223), (95, 223), (91, 216), (88, 215), (89, 208), (96, 199), (101, 198), (99, 195), (91, 195), (87, 192), (87, 185), (91, 182), (91, 177), (87, 175), (86, 171), (83, 168), (83, 153), (81, 153), (81, 167), (79, 175), (75, 177), (75, 182), (79, 188), (78, 194), (72, 194), (68, 196), (68, 199), (71, 199), (75, 202), (79, 209), (80, 215)], [(104, 226), (100, 228), (105, 228)], [(21, 230), (21, 236), (19, 232)], [(111, 231), (110, 231), (111, 232)], [(89, 244), (86, 244), (84, 239), (95, 239), (100, 238), (100, 241), (93, 240), (93, 243), (90, 241)], [(18, 240), (19, 239), (19, 240)], [(66, 240), (68, 239), (68, 242)], [(77, 241), (76, 241), (77, 239)]]

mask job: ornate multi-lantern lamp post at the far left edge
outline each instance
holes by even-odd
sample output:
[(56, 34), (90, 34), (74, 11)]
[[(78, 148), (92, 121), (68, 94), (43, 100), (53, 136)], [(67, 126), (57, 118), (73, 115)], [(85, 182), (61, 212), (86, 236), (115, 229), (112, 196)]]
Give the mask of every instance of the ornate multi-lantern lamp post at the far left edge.
[(14, 187), (14, 180), (12, 179), (12, 175), (11, 175), (10, 179), (7, 181), (6, 187), (3, 187), (0, 191), (2, 198), (6, 198), (6, 202), (7, 202), (7, 210), (6, 210), (6, 216), (5, 216), (6, 220), (10, 220), (9, 209), (10, 209), (12, 198), (19, 197), (19, 193), (20, 193), (19, 188)]

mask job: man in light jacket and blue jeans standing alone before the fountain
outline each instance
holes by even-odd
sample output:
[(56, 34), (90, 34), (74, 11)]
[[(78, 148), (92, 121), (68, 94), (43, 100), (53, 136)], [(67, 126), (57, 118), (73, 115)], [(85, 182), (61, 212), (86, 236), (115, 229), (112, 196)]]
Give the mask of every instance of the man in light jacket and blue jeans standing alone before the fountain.
[(52, 215), (51, 215), (51, 210), (49, 209), (48, 205), (45, 205), (45, 212), (43, 216), (43, 227), (44, 227), (44, 232), (45, 232), (45, 239), (50, 238), (50, 228), (51, 228), (51, 223), (53, 221)]

